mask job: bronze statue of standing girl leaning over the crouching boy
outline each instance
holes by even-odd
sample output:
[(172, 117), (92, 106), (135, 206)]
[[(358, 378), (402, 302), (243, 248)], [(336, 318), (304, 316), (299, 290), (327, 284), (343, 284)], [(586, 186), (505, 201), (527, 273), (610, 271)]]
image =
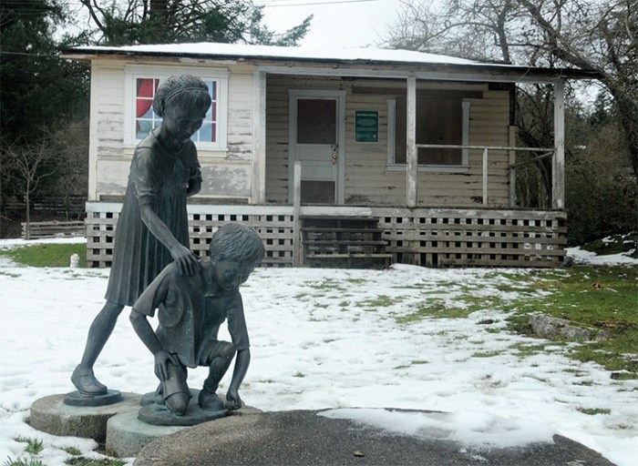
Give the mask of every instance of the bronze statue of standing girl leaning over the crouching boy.
[(186, 199), (201, 188), (197, 149), (190, 137), (210, 108), (208, 86), (199, 77), (171, 76), (157, 89), (153, 110), (163, 119), (133, 154), (116, 228), (107, 302), (88, 329), (84, 355), (71, 376), (82, 394), (107, 393), (93, 374), (93, 365), (122, 309), (132, 306), (171, 261), (182, 275), (201, 267), (189, 248)]

